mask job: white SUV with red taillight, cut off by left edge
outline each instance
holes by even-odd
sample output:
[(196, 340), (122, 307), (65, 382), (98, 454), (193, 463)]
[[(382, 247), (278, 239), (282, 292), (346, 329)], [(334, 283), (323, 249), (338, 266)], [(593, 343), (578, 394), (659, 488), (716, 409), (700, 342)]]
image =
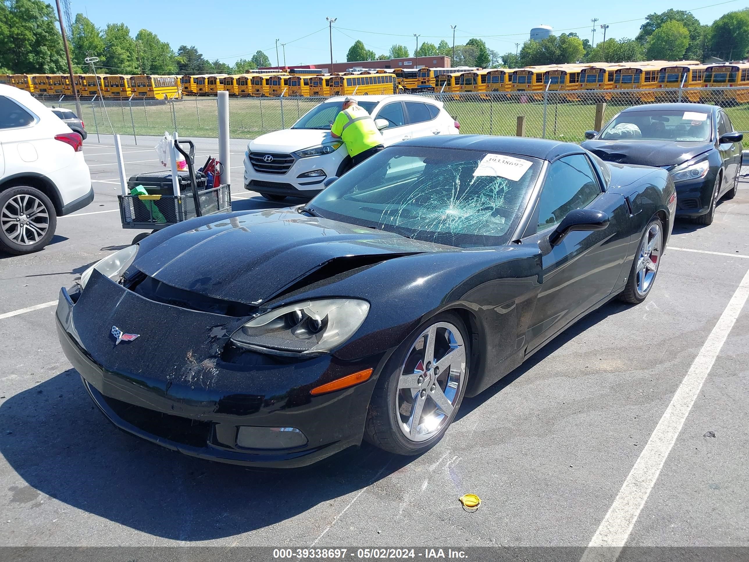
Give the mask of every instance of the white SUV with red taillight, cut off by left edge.
[(58, 216), (94, 200), (82, 148), (51, 109), (0, 84), (0, 252), (41, 250)]

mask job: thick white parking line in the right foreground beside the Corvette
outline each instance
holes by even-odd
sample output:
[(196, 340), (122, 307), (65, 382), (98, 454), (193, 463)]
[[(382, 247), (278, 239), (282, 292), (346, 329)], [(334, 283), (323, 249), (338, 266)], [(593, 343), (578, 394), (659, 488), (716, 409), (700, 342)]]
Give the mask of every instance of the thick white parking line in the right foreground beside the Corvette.
[(695, 357), (682, 384), (676, 389), (676, 394), (673, 395), (658, 426), (652, 432), (622, 489), (619, 490), (604, 520), (598, 526), (598, 531), (595, 531), (588, 548), (580, 558), (581, 562), (613, 562), (619, 557), (634, 523), (637, 522), (640, 510), (643, 509), (655, 485), (655, 480), (658, 480), (658, 474), (661, 473), (668, 453), (679, 436), (689, 411), (748, 297), (749, 271), (733, 293), (721, 318), (718, 318), (718, 323)]

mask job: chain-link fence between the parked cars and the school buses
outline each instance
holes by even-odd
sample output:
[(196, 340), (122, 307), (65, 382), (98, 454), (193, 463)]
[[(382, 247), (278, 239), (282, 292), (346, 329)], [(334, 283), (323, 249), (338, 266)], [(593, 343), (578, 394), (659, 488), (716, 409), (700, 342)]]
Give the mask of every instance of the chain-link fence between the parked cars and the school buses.
[[(447, 112), (461, 124), (461, 133), (464, 134), (514, 136), (518, 133), (518, 118), (522, 117), (525, 136), (582, 142), (583, 133), (596, 127), (596, 111), (602, 111), (599, 119), (606, 123), (629, 106), (679, 101), (720, 105), (736, 130), (749, 133), (749, 88), (433, 92), (418, 96), (442, 101)], [(231, 138), (255, 139), (264, 133), (291, 127), (297, 119), (326, 99), (231, 97)], [(76, 110), (71, 98), (47, 98), (44, 103)], [(160, 136), (164, 131), (173, 130), (182, 137), (218, 136), (215, 97), (130, 101), (94, 98), (81, 100), (81, 109), (89, 135), (97, 132), (130, 135), (136, 144), (139, 136)], [(744, 145), (749, 148), (749, 139), (745, 139)]]

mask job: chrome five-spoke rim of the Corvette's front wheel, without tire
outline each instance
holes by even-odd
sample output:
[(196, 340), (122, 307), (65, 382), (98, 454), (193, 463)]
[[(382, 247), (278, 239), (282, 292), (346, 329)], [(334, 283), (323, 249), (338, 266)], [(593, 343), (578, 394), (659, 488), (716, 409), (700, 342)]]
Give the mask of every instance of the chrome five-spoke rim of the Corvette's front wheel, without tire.
[(466, 372), (458, 327), (437, 322), (411, 345), (398, 378), (398, 425), (410, 441), (436, 435), (452, 414)]

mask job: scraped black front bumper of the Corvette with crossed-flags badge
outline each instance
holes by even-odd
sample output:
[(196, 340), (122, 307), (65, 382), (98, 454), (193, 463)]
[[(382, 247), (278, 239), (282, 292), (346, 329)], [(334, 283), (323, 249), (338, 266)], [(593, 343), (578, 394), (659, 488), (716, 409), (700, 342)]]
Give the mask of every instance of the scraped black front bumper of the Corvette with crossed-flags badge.
[[(103, 300), (117, 303), (111, 313), (101, 313), (106, 308), (101, 306)], [(97, 309), (102, 317), (98, 320)], [(144, 315), (165, 319), (178, 337), (165, 345), (163, 339), (158, 342), (153, 329), (139, 326), (142, 336), (133, 342), (114, 345), (114, 339), (105, 341), (112, 324), (132, 328)], [(183, 325), (175, 325), (180, 316)], [(197, 345), (204, 334), (196, 333), (193, 338), (187, 333), (196, 321), (206, 322), (209, 332), (216, 330), (216, 315), (146, 300), (98, 272), (76, 303), (62, 288), (56, 311), (66, 357), (94, 403), (126, 432), (202, 459), (272, 468), (310, 465), (361, 443), (376, 376), (321, 396), (311, 396), (309, 389), (367, 368), (364, 365), (377, 369), (380, 357), (349, 363), (323, 356), (273, 366), (267, 358), (259, 364), (263, 356), (248, 352), (260, 362), (238, 365), (222, 357), (206, 357), (206, 349)], [(140, 348), (136, 348), (139, 341)], [(180, 354), (187, 353), (192, 362), (189, 372), (184, 366), (182, 370), (176, 364), (171, 369), (166, 366), (170, 348), (180, 342), (184, 342)], [(215, 344), (215, 340), (210, 343)], [(207, 364), (210, 367), (204, 369)], [(294, 427), (306, 435), (307, 442), (284, 450), (247, 449), (237, 445), (241, 426)]]

